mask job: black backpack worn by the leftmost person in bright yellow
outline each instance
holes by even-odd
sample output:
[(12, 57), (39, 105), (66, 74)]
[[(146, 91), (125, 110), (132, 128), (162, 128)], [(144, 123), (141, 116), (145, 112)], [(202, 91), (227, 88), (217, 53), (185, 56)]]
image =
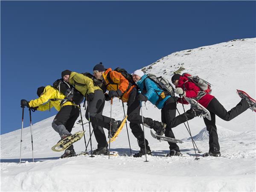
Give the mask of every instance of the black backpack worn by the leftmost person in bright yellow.
[(63, 79), (57, 79), (53, 83), (53, 87), (58, 89), (59, 92), (63, 93), (66, 96), (66, 99), (63, 99), (63, 103), (64, 101), (70, 101), (76, 105), (79, 105), (84, 100), (84, 96), (78, 90), (76, 90), (75, 87), (68, 84)]

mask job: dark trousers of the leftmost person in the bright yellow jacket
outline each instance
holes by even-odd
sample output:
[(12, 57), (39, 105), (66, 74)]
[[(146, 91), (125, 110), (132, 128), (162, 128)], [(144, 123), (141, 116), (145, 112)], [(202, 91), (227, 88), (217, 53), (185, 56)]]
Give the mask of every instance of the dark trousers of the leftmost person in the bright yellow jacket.
[[(52, 122), (52, 128), (58, 132), (60, 136), (63, 134), (70, 135), (79, 113), (80, 111), (78, 107), (74, 105), (65, 105), (55, 116)], [(67, 149), (72, 150), (73, 145)]]

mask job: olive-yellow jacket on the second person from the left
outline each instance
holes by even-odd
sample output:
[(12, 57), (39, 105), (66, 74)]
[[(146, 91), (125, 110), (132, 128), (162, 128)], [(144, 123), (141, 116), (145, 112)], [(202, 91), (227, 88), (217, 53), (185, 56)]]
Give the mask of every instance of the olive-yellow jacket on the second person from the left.
[(94, 93), (95, 90), (102, 90), (98, 86), (94, 86), (93, 79), (84, 76), (81, 73), (71, 72), (69, 83), (75, 86), (76, 90), (80, 91), (83, 96), (89, 93)]

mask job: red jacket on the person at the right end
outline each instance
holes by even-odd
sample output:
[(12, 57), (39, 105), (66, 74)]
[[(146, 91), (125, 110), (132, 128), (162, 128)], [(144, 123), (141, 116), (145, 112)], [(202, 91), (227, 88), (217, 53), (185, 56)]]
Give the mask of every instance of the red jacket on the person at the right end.
[[(200, 88), (196, 86), (194, 83), (190, 82), (188, 78), (181, 76), (178, 82), (178, 85), (176, 87), (180, 87), (186, 92), (186, 97), (195, 98), (198, 95), (198, 92), (200, 91)], [(198, 103), (203, 105), (205, 108), (209, 105), (209, 102), (214, 98), (214, 96), (206, 93), (205, 96), (203, 96), (201, 99), (198, 100)], [(181, 98), (178, 99), (179, 103), (188, 104), (185, 99)]]

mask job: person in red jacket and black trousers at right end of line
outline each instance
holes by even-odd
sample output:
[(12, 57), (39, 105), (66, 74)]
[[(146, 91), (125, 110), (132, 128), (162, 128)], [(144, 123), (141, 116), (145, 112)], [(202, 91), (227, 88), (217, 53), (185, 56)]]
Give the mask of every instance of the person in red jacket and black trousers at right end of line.
[[(209, 153), (205, 153), (204, 157), (221, 156), (217, 128), (215, 125), (215, 115), (225, 121), (230, 121), (251, 107), (247, 99), (241, 99), (236, 107), (232, 108), (230, 111), (227, 111), (214, 96), (201, 91), (200, 88), (196, 86), (196, 84), (189, 81), (186, 76), (175, 74), (172, 76), (172, 83), (176, 87), (175, 93), (180, 96), (180, 98), (177, 100), (179, 103), (188, 104), (188, 102), (186, 102), (186, 100), (183, 98), (185, 96), (193, 98), (210, 112), (211, 120), (204, 118), (204, 123), (207, 131), (209, 132)], [(203, 94), (201, 94), (202, 92)]]

